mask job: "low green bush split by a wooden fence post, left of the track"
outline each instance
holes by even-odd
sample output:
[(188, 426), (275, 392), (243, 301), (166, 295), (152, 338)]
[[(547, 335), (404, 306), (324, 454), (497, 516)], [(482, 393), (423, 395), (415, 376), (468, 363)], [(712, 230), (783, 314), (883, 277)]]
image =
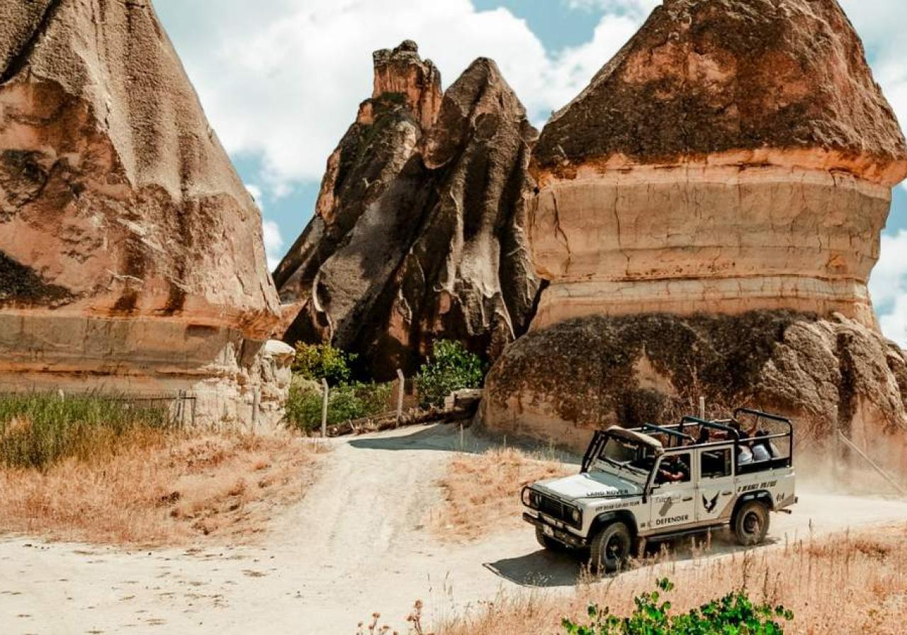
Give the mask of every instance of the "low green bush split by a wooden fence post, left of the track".
[[(342, 384), (332, 387), (327, 395), (327, 425), (384, 413), (392, 388), (393, 384)], [(319, 429), (321, 400), (320, 386), (294, 377), (287, 397), (288, 424), (307, 432)]]

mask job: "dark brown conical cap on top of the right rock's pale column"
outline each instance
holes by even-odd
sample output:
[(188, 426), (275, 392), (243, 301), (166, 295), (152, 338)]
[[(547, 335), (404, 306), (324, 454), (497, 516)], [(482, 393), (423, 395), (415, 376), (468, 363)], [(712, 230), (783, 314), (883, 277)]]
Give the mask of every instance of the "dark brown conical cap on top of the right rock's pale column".
[[(666, 0), (541, 134), (534, 170), (819, 149), (893, 184), (907, 148), (835, 0)], [(762, 151), (760, 154), (759, 151)]]

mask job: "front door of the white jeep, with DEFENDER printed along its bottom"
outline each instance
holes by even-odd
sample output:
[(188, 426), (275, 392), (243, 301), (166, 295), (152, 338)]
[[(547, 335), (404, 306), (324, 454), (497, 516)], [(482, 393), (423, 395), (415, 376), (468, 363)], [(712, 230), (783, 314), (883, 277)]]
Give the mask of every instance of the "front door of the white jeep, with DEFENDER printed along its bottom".
[[(667, 474), (678, 474), (671, 472), (678, 466), (685, 468), (686, 475), (677, 481), (668, 480)], [(669, 452), (660, 458), (649, 502), (650, 532), (669, 533), (696, 523), (695, 467), (692, 452)]]

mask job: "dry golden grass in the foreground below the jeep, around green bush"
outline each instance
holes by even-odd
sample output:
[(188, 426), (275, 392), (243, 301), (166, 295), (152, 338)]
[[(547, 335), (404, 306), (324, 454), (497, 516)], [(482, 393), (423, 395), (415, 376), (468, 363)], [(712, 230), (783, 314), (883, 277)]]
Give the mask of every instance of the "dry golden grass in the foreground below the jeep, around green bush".
[(564, 616), (581, 619), (590, 602), (618, 615), (633, 597), (667, 576), (674, 611), (688, 611), (745, 588), (754, 601), (782, 603), (795, 613), (786, 632), (805, 635), (898, 635), (907, 622), (907, 526), (818, 539), (688, 562), (664, 562), (598, 583), (575, 594), (502, 595), (442, 625), (439, 635), (533, 633), (561, 635)]

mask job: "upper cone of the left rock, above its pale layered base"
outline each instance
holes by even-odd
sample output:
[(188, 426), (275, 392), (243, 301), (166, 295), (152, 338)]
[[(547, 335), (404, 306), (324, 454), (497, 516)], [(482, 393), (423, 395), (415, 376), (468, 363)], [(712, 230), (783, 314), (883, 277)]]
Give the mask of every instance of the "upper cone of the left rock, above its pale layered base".
[(261, 232), (151, 3), (0, 2), (0, 313), (266, 340)]

